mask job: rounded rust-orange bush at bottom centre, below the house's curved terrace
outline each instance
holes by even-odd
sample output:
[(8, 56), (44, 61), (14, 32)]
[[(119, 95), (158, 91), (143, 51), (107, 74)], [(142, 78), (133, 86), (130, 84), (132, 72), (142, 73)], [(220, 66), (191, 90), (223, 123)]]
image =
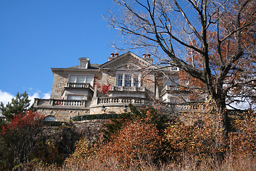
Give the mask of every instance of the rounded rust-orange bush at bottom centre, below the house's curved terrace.
[(104, 157), (116, 157), (119, 161), (127, 163), (154, 155), (159, 142), (156, 127), (143, 120), (129, 121), (117, 135), (112, 136), (112, 142), (102, 145), (100, 153)]

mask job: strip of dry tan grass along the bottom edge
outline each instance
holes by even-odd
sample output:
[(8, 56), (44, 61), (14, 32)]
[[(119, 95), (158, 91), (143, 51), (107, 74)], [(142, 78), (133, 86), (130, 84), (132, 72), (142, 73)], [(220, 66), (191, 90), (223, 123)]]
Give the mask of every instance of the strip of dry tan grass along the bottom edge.
[[(109, 158), (104, 162), (99, 159), (93, 158), (92, 160), (87, 160), (87, 162), (81, 162), (80, 164), (71, 165), (70, 167), (65, 167), (65, 165), (58, 167), (55, 165), (46, 166), (41, 162), (35, 163), (32, 170), (36, 171), (68, 171), (68, 170), (107, 170), (107, 171), (121, 171), (121, 170), (142, 170), (142, 171), (194, 171), (194, 170), (225, 170), (225, 171), (253, 171), (256, 170), (256, 158), (246, 157), (231, 159), (227, 157), (225, 160), (220, 161), (218, 159), (208, 158), (205, 160), (197, 161), (193, 157), (184, 157), (182, 164), (176, 164), (174, 162), (166, 162), (165, 164), (159, 163), (154, 164), (150, 160), (140, 160), (139, 165), (129, 165), (125, 167), (122, 163), (117, 162), (117, 159)], [(22, 169), (21, 169), (22, 170)], [(27, 167), (26, 167), (27, 170)]]

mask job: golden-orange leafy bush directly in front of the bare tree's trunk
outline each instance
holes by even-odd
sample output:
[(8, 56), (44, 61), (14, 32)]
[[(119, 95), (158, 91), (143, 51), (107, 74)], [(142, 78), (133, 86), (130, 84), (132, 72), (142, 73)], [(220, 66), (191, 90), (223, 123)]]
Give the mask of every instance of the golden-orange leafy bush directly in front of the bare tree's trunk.
[(219, 116), (211, 112), (213, 105), (209, 100), (191, 106), (186, 113), (181, 114), (180, 122), (165, 130), (165, 155), (174, 160), (181, 160), (184, 154), (201, 159), (224, 152), (222, 129), (218, 127)]

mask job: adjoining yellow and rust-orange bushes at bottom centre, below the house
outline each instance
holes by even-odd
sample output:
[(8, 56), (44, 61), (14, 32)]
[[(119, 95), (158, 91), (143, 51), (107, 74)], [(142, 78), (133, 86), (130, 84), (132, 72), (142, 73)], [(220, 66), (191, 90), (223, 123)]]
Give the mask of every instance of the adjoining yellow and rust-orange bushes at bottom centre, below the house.
[(96, 164), (105, 170), (113, 163), (122, 168), (139, 165), (142, 160), (154, 156), (159, 140), (154, 124), (145, 123), (142, 119), (130, 120), (116, 135), (112, 135), (111, 142), (100, 141), (90, 145), (86, 139), (78, 141), (73, 155), (65, 160), (65, 166), (70, 170), (74, 166), (90, 170)]

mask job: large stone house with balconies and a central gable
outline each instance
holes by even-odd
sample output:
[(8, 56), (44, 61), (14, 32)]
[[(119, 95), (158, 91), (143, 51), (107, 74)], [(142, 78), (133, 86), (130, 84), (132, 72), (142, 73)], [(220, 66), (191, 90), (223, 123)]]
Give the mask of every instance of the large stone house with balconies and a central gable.
[[(168, 67), (159, 72), (149, 54), (139, 57), (130, 51), (120, 56), (111, 53), (103, 64), (79, 58), (78, 66), (51, 70), (54, 78), (50, 99), (35, 98), (33, 104), (46, 120), (68, 121), (78, 115), (120, 114), (129, 110), (129, 103), (140, 108), (151, 105), (154, 100), (176, 103), (178, 95), (188, 97), (188, 93), (175, 84), (178, 68)], [(163, 71), (168, 78), (163, 76)]]

